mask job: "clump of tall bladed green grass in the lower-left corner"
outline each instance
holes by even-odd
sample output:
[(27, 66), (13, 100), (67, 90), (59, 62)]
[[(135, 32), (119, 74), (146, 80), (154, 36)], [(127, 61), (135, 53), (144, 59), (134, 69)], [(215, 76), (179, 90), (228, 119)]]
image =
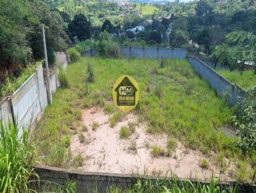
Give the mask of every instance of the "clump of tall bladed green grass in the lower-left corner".
[(20, 139), (18, 128), (0, 122), (0, 192), (29, 192), (29, 178), (33, 173), (32, 158), (35, 147), (28, 143), (24, 129)]

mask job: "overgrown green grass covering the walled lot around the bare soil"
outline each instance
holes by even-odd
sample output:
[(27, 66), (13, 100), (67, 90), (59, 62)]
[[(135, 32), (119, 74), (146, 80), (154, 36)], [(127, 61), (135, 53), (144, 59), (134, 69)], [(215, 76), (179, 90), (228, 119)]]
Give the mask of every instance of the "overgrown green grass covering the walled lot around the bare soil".
[[(86, 82), (86, 66), (90, 63), (95, 82)], [(104, 107), (113, 118), (122, 116), (112, 100), (112, 87), (120, 75), (131, 75), (140, 86), (140, 102), (134, 113), (147, 123), (152, 134), (165, 133), (185, 146), (214, 155), (216, 164), (225, 169), (225, 158), (236, 163), (233, 176), (249, 181), (253, 176), (256, 156), (244, 157), (236, 147), (236, 137), (226, 137), (218, 128), (230, 125), (232, 109), (196, 75), (186, 60), (101, 59), (81, 58), (68, 65), (69, 88), (59, 89), (53, 103), (45, 109), (33, 141), (40, 162), (68, 167), (71, 160), (70, 136), (79, 130), (81, 110)]]

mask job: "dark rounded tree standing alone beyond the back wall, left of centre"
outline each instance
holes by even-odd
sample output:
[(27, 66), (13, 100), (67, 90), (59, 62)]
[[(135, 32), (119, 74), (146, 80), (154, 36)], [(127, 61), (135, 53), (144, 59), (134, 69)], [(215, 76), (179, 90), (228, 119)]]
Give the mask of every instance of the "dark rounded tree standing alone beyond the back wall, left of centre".
[(75, 15), (74, 19), (68, 24), (68, 36), (74, 40), (77, 36), (78, 40), (86, 40), (92, 36), (90, 22), (83, 14)]

